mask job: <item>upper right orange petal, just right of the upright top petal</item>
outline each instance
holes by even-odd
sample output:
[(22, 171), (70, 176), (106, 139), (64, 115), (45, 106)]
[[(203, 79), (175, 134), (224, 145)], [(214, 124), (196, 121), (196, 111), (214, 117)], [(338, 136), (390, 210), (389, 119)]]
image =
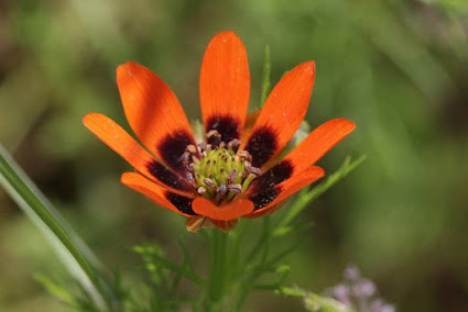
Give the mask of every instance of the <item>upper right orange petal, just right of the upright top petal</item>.
[(314, 78), (315, 64), (306, 62), (290, 70), (273, 88), (243, 146), (252, 155), (253, 166), (263, 166), (293, 137), (307, 111)]

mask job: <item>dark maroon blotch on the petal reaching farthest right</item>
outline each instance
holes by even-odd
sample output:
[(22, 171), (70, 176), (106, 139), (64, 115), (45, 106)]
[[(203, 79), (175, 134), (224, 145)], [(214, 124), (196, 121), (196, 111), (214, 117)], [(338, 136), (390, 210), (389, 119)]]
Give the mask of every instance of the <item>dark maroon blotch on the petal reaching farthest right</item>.
[(252, 191), (253, 193), (263, 192), (264, 190), (289, 179), (293, 175), (293, 171), (294, 167), (291, 160), (282, 160), (270, 170), (254, 179), (250, 186), (251, 190), (249, 191)]

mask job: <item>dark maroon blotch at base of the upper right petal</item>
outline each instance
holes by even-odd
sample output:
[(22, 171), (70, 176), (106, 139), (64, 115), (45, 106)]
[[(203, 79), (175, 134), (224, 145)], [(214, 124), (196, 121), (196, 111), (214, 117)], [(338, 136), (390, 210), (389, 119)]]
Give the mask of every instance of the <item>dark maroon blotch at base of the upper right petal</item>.
[(246, 151), (252, 156), (252, 165), (260, 168), (273, 156), (276, 146), (276, 134), (272, 129), (263, 126), (250, 135)]

